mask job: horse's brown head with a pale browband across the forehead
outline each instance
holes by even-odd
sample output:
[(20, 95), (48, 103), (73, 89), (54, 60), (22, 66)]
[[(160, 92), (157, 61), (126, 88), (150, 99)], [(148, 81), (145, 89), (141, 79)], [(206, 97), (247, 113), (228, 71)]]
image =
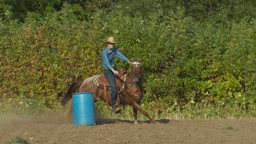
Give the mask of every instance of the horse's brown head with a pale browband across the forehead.
[(133, 82), (139, 81), (141, 75), (142, 75), (141, 63), (139, 62), (131, 63), (132, 81)]

